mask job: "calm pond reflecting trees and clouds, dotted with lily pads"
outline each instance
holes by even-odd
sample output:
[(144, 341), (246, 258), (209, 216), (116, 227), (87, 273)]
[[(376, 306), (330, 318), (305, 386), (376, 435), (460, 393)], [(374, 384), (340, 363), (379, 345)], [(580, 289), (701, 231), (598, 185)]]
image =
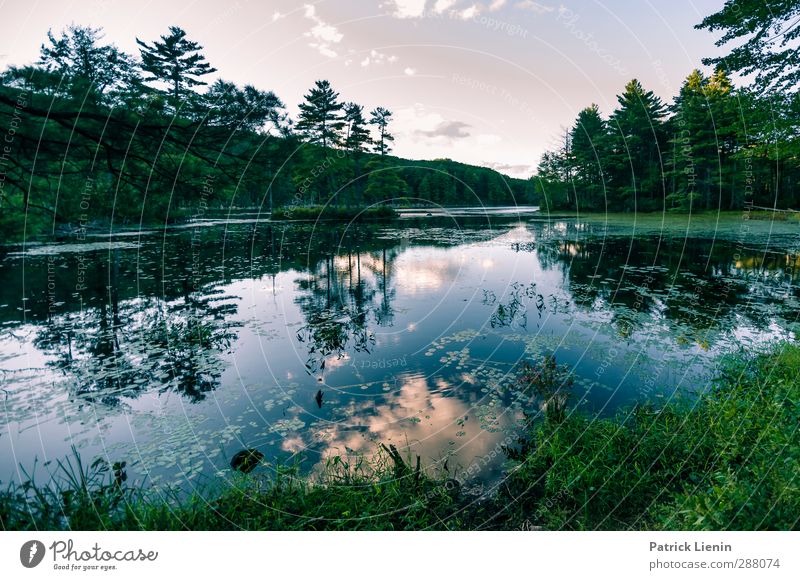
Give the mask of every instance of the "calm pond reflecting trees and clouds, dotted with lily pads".
[(426, 213), (3, 247), (0, 482), (47, 480), (72, 445), (190, 488), (245, 448), (310, 471), (379, 443), (491, 481), (522, 361), (555, 353), (571, 407), (609, 415), (798, 329), (796, 223)]

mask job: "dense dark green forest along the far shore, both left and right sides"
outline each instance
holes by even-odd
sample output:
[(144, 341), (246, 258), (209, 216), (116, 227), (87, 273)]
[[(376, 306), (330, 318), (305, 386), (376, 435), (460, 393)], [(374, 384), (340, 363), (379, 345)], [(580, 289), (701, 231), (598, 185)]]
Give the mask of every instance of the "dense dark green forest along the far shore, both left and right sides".
[[(391, 155), (392, 112), (318, 80), (290, 118), (271, 91), (224, 80), (172, 26), (137, 39), (48, 33), (0, 83), (0, 235), (169, 222), (210, 207), (541, 204), (545, 210), (800, 208), (800, 13), (729, 0), (697, 25), (724, 34), (672, 103), (637, 80), (608, 117), (580, 111), (531, 180), (449, 159)], [(750, 80), (737, 87), (732, 78)]]

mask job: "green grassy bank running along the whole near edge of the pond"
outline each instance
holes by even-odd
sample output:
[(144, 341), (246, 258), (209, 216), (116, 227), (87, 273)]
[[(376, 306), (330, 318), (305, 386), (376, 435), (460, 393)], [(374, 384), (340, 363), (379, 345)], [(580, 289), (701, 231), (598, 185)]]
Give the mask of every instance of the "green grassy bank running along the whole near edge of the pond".
[[(549, 384), (536, 384), (543, 376)], [(728, 359), (694, 402), (613, 419), (565, 412), (554, 404), (558, 383), (558, 372), (530, 381), (549, 411), (531, 414), (507, 477), (483, 497), (384, 448), (371, 463), (334, 458), (314, 481), (283, 468), (182, 499), (126, 488), (120, 466), (70, 465), (59, 488), (0, 494), (0, 520), (5, 529), (798, 528), (797, 345)]]

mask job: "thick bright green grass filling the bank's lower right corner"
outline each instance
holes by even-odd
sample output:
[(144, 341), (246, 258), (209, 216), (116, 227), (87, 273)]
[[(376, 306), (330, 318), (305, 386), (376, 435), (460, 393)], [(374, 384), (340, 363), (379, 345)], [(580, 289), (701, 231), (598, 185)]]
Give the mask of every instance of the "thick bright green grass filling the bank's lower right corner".
[(800, 348), (727, 360), (700, 399), (531, 425), (500, 516), (546, 529), (795, 529)]

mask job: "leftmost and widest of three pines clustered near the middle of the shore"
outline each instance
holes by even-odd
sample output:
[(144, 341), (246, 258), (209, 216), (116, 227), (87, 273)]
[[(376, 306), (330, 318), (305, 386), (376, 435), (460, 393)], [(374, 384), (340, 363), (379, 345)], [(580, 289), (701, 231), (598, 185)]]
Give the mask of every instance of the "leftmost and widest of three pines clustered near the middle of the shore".
[(296, 128), (311, 143), (323, 147), (335, 147), (341, 142), (341, 131), (345, 126), (342, 117), (344, 105), (339, 102), (339, 93), (326, 80), (316, 81), (314, 87), (300, 103), (300, 117)]

